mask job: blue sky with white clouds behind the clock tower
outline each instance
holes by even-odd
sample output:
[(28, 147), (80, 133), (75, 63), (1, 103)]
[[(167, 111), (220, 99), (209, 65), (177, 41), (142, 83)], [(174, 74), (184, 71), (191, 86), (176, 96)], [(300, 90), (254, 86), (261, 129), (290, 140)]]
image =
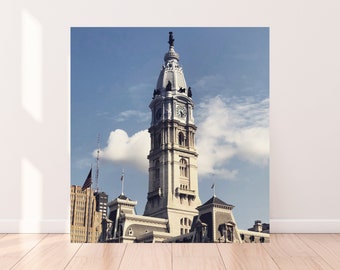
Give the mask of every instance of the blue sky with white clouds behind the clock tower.
[(169, 31), (193, 92), (202, 203), (215, 183), (239, 228), (269, 222), (269, 28), (72, 28), (71, 183), (95, 169), (100, 134), (100, 189), (117, 197), (124, 169), (143, 214), (148, 106)]

